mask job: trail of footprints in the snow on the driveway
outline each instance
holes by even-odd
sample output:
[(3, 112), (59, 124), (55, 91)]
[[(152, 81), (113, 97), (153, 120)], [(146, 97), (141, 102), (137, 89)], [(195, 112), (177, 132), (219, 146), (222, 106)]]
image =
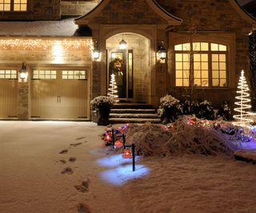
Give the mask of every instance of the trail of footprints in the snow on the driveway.
[[(82, 140), (85, 137), (78, 137), (76, 138), (76, 140)], [(84, 142), (78, 142), (78, 143), (74, 143), (74, 144), (70, 144), (70, 148), (75, 148), (79, 145), (81, 145), (82, 143), (86, 143), (87, 141), (85, 140)], [(58, 152), (61, 155), (65, 155), (69, 152), (68, 149), (63, 149), (61, 152)], [(65, 159), (61, 159), (58, 160), (59, 162), (61, 162), (62, 164), (67, 164), (67, 163), (74, 163), (77, 159), (75, 157), (70, 157), (69, 160), (65, 160)], [(74, 170), (71, 167), (66, 167), (62, 170), (61, 174), (66, 174), (66, 175), (72, 175), (74, 172)], [(79, 185), (74, 185), (74, 188), (79, 191), (79, 192), (86, 192), (89, 191), (89, 183), (90, 183), (90, 179), (86, 179), (83, 180), (82, 183), (80, 183)], [(90, 213), (90, 208), (88, 207), (88, 205), (86, 205), (85, 203), (78, 203), (77, 205), (77, 210), (78, 213)]]

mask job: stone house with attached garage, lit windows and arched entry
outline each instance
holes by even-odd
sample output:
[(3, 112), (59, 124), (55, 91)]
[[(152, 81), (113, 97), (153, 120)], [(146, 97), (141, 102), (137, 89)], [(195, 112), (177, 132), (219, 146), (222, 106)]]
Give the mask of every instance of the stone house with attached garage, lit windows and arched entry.
[(112, 73), (121, 101), (155, 108), (166, 93), (232, 104), (241, 69), (249, 77), (256, 23), (235, 0), (11, 0), (0, 10), (2, 119), (90, 120)]

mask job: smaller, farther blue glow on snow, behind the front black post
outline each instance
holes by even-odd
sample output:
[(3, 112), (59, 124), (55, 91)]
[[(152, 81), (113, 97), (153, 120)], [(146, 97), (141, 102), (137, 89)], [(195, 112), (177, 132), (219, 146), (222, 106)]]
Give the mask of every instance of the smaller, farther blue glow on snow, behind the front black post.
[[(139, 159), (139, 156), (135, 156), (135, 162)], [(119, 165), (132, 164), (133, 160), (131, 158), (123, 158), (122, 154), (110, 155), (97, 160), (97, 163), (102, 167), (115, 168)], [(130, 166), (131, 167), (131, 166)]]

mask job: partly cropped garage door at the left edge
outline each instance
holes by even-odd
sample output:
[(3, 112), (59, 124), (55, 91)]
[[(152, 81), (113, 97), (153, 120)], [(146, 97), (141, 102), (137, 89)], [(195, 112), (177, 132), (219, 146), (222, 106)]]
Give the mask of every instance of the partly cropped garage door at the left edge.
[(17, 70), (0, 70), (0, 118), (17, 117), (18, 80)]

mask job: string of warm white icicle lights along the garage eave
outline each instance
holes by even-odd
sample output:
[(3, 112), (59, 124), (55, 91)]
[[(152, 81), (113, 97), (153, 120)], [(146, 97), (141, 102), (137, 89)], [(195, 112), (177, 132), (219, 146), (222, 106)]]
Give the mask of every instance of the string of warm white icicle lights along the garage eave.
[(63, 50), (92, 50), (91, 38), (6, 38), (0, 39), (0, 50), (51, 50), (61, 45)]

